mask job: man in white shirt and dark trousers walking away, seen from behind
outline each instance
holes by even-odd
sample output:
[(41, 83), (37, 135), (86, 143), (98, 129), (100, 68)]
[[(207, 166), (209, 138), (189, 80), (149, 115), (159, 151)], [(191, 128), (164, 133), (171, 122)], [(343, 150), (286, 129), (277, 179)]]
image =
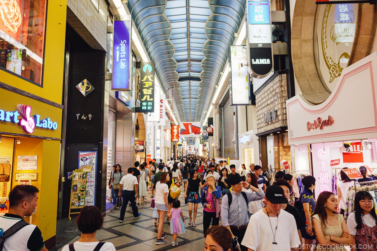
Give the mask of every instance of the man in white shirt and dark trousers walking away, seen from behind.
[[(119, 187), (119, 196), (122, 196), (123, 198), (123, 204), (122, 208), (120, 210), (120, 217), (119, 217), (119, 222), (124, 221), (124, 214), (126, 214), (126, 208), (128, 202), (131, 203), (132, 207), (132, 213), (133, 213), (133, 218), (138, 218), (141, 213), (138, 211), (138, 206), (136, 205), (135, 198), (138, 196), (138, 178), (133, 176), (133, 168), (130, 167), (127, 170), (127, 175), (123, 176), (123, 178), (120, 181), (120, 187)], [(122, 188), (123, 190), (123, 195), (122, 195)], [(135, 190), (134, 190), (135, 189)]]

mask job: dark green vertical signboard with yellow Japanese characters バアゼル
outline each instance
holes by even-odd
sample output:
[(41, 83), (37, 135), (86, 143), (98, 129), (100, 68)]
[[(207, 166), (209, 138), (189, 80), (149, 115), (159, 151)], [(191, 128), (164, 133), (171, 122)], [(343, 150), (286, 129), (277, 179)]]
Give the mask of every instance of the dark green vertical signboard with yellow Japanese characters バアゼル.
[(150, 113), (155, 107), (155, 63), (141, 62), (140, 110)]

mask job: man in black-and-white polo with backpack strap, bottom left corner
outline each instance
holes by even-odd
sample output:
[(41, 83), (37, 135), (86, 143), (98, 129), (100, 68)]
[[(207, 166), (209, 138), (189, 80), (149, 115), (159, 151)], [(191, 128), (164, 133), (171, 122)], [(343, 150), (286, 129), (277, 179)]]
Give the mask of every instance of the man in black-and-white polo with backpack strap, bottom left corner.
[(18, 185), (9, 192), (9, 213), (0, 217), (0, 250), (48, 251), (41, 230), (23, 219), (37, 207), (38, 192), (30, 185)]

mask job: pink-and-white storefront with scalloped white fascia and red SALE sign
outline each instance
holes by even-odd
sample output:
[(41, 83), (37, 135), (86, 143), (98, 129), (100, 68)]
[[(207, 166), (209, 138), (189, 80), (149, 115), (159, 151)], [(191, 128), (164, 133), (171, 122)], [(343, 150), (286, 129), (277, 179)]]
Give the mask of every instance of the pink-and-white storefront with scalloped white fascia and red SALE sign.
[(317, 179), (316, 196), (334, 190), (332, 180), (343, 167), (377, 171), (376, 74), (374, 52), (342, 71), (325, 102), (311, 105), (301, 95), (287, 100), (293, 166), (310, 167)]

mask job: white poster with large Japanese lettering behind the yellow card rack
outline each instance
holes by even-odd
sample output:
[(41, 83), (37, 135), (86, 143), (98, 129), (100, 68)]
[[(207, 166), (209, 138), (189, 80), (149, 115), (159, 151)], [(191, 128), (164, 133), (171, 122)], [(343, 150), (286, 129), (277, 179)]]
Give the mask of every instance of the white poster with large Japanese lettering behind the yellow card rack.
[(78, 152), (78, 169), (85, 169), (88, 171), (86, 181), (86, 197), (85, 205), (95, 205), (95, 184), (97, 172), (97, 151), (92, 152)]

